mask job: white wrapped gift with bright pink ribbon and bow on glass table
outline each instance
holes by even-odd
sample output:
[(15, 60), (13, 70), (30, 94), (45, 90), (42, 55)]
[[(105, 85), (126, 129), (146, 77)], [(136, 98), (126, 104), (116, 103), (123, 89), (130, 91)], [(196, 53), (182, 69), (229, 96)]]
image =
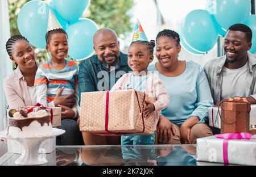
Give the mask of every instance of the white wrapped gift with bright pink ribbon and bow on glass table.
[(197, 138), (197, 161), (256, 165), (256, 136), (250, 133), (225, 133)]

